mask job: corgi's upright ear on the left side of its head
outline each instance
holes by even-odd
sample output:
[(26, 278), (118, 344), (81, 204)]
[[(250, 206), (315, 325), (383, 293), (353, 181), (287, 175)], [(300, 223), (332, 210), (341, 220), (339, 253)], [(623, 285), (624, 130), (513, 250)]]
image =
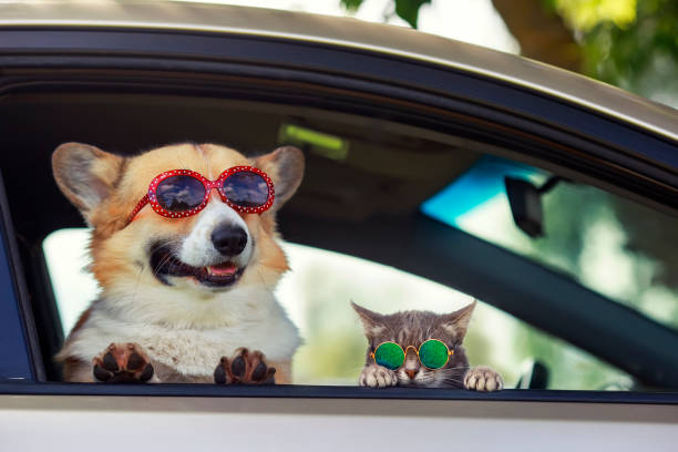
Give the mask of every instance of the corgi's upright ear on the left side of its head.
[(82, 143), (64, 143), (52, 154), (56, 185), (88, 224), (95, 207), (111, 195), (124, 158)]

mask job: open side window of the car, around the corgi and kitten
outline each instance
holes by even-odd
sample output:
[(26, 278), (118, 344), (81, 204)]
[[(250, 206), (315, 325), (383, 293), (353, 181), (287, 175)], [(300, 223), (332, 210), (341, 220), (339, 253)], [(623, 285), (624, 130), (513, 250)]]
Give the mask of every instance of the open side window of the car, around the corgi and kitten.
[[(248, 156), (281, 145), (305, 155), (304, 182), (278, 217), (291, 270), (276, 294), (304, 339), (294, 357), (294, 383), (357, 386), (367, 342), (351, 301), (384, 314), (451, 312), (470, 304), (473, 294), (480, 302), (464, 341), (470, 363), (495, 368), (506, 388), (674, 389), (666, 382), (670, 372), (662, 371), (666, 362), (678, 363), (656, 339), (676, 340), (674, 257), (653, 254), (656, 244), (638, 242), (629, 250), (627, 238), (631, 233), (658, 237), (656, 225), (669, 230), (675, 218), (568, 175), (541, 197), (545, 236), (530, 238), (515, 226), (505, 177), (542, 187), (556, 173), (499, 157), (508, 153), (501, 143), (386, 114), (368, 117), (261, 100), (18, 93), (2, 99), (1, 112), (10, 127), (24, 132), (8, 143), (17, 170), (7, 173), (6, 184), (30, 263), (48, 367), (97, 296), (83, 271), (89, 232), (74, 228), (82, 218), (49, 176), (50, 153), (80, 140), (134, 155), (191, 135)], [(38, 123), (50, 133), (29, 133)], [(40, 150), (40, 160), (33, 150)], [(28, 168), (43, 175), (34, 192), (21, 176)], [(30, 208), (39, 203), (41, 209)], [(629, 208), (628, 223), (623, 208)], [(40, 311), (50, 301), (53, 311)], [(593, 314), (588, 328), (573, 321), (589, 309), (617, 315), (620, 304), (634, 308), (634, 316), (622, 316), (625, 323)], [(636, 325), (644, 328), (640, 339)], [(50, 326), (54, 331), (48, 335)], [(605, 340), (598, 340), (598, 331)], [(627, 342), (640, 342), (636, 353), (619, 346)], [(58, 371), (48, 373), (59, 379)]]

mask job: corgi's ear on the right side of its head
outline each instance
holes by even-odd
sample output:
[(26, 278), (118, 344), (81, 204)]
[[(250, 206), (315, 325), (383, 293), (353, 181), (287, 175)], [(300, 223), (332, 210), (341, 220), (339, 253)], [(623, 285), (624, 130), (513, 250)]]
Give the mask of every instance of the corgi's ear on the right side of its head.
[(282, 146), (255, 158), (254, 163), (273, 179), (276, 191), (274, 209), (280, 208), (301, 184), (305, 166), (304, 153), (295, 146)]

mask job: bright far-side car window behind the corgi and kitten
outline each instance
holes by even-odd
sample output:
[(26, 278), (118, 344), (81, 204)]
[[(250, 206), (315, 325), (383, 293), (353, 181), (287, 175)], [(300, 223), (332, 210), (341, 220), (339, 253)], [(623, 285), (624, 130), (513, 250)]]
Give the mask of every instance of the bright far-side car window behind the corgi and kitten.
[[(64, 335), (97, 292), (84, 270), (88, 242), (88, 229), (68, 228), (43, 243)], [(367, 341), (350, 301), (380, 312), (417, 308), (441, 314), (473, 301), (450, 287), (366, 259), (292, 243), (284, 243), (284, 249), (292, 270), (277, 296), (304, 338), (292, 362), (297, 384), (357, 384)], [(625, 372), (482, 301), (465, 346), (472, 364), (497, 369), (510, 388), (525, 384), (535, 367), (546, 370), (542, 378), (547, 389), (633, 387)]]

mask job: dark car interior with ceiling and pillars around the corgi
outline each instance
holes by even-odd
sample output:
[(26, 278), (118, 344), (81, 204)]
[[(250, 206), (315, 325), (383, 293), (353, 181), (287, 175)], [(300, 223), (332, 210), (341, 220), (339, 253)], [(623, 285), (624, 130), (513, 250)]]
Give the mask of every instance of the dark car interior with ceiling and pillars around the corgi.
[[(84, 226), (53, 181), (53, 150), (76, 141), (134, 155), (170, 143), (209, 142), (248, 156), (285, 144), (302, 150), (304, 182), (278, 217), (286, 240), (393, 267), (475, 297), (628, 373), (633, 382), (623, 389), (678, 388), (676, 327), (422, 210), (487, 156), (534, 165), (514, 152), (520, 145), (514, 138), (502, 144), (489, 132), (422, 127), (377, 106), (367, 116), (245, 91), (208, 96), (133, 85), (24, 89), (0, 97), (6, 131), (0, 170), (44, 380), (61, 378), (50, 357), (64, 335), (42, 244), (55, 230)], [(581, 183), (567, 171), (557, 172), (557, 165), (546, 166), (538, 184), (526, 176), (506, 182), (511, 222), (526, 240), (541, 234), (546, 216), (534, 213), (540, 192)], [(547, 367), (535, 360), (515, 387), (548, 388)]]

